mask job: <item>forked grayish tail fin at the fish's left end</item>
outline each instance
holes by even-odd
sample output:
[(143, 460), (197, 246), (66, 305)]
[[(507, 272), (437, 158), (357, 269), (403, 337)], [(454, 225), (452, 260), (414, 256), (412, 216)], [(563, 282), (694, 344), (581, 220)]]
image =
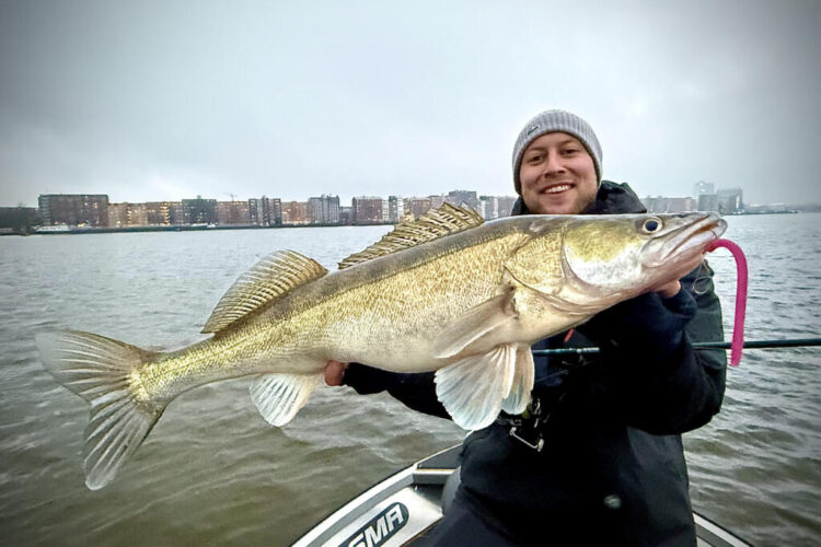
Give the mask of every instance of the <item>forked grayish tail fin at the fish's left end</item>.
[(91, 405), (83, 447), (85, 486), (103, 488), (165, 409), (165, 403), (138, 399), (128, 382), (131, 371), (155, 353), (77, 330), (41, 334), (37, 348), (54, 377)]

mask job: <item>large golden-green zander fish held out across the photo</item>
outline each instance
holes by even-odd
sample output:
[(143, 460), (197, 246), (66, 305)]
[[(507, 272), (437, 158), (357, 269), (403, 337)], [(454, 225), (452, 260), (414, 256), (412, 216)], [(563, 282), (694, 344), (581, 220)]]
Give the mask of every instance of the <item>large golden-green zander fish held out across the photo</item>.
[(84, 468), (105, 486), (167, 404), (247, 374), (264, 418), (287, 423), (329, 359), (436, 370), (437, 395), (465, 429), (522, 412), (535, 340), (696, 267), (726, 223), (715, 214), (525, 216), (483, 223), (443, 206), (401, 223), (328, 274), (278, 252), (242, 275), (203, 333), (172, 352), (74, 330), (37, 337), (43, 362), (91, 405)]

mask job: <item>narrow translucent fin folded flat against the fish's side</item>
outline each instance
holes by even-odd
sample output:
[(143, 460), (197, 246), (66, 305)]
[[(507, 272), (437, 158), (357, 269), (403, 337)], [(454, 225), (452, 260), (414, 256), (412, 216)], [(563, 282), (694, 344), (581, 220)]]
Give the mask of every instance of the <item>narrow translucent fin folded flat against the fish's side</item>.
[(467, 346), (516, 318), (513, 292), (506, 291), (456, 317), (444, 327), (431, 347), (437, 359), (458, 356)]

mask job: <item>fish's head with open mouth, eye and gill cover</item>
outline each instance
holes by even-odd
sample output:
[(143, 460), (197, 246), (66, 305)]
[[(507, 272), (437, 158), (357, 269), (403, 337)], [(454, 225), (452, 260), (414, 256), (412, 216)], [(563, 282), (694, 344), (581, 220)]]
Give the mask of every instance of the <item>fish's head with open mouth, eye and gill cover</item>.
[(706, 212), (544, 216), (508, 270), (562, 307), (603, 309), (680, 279), (726, 229)]

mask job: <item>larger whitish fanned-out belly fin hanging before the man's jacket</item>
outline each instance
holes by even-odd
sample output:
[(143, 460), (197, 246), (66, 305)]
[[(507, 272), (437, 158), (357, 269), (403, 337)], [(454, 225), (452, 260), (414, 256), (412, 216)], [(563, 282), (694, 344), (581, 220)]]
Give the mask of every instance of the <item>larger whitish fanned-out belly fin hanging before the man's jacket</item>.
[(436, 373), (436, 394), (453, 421), (469, 430), (494, 422), (513, 384), (516, 346), (497, 346)]

